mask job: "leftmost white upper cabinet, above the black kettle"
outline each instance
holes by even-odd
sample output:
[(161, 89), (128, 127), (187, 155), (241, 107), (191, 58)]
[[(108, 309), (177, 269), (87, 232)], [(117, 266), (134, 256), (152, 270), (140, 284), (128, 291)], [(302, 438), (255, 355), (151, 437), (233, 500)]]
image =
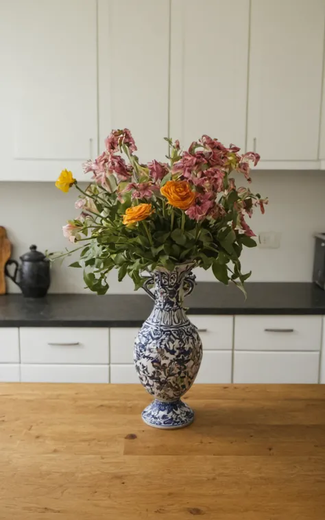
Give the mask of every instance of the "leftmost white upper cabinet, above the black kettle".
[(3, 1), (1, 33), (1, 180), (55, 180), (65, 167), (84, 178), (97, 154), (96, 0)]

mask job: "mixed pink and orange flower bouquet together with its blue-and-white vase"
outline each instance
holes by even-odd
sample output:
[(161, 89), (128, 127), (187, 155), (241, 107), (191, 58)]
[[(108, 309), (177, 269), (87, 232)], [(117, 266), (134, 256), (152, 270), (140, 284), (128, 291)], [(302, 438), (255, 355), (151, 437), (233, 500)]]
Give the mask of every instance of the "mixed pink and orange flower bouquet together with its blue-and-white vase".
[[(80, 217), (63, 227), (76, 245), (54, 257), (80, 252), (71, 267), (84, 268), (86, 285), (97, 294), (108, 290), (108, 273), (128, 274), (135, 289), (143, 287), (155, 300), (154, 309), (139, 331), (134, 363), (141, 383), (154, 395), (143, 420), (154, 427), (184, 427), (193, 410), (180, 400), (200, 368), (202, 343), (183, 308), (194, 286), (192, 269), (212, 268), (215, 278), (232, 282), (245, 292), (239, 260), (243, 247), (254, 247), (246, 221), (266, 199), (248, 186), (236, 187), (232, 172), (250, 182), (250, 161), (259, 156), (239, 154), (207, 135), (182, 151), (169, 143), (168, 162), (143, 164), (136, 156), (130, 130), (114, 130), (106, 149), (84, 164), (93, 174), (85, 191), (64, 170), (56, 182), (62, 191), (75, 187)], [(151, 287), (154, 286), (154, 292)]]

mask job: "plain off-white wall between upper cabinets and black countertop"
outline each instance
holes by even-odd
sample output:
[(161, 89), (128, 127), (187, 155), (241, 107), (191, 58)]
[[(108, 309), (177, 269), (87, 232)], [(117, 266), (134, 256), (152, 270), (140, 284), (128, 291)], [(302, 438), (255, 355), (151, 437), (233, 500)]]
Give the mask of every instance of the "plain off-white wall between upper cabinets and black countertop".
[[(278, 249), (246, 249), (242, 264), (252, 270), (250, 281), (311, 281), (313, 233), (325, 229), (324, 172), (253, 172), (253, 191), (269, 197), (265, 215), (256, 215), (250, 224), (255, 233), (278, 231)], [(0, 224), (5, 226), (16, 259), (30, 244), (42, 251), (63, 250), (69, 241), (62, 237), (61, 226), (77, 216), (73, 189), (65, 194), (47, 182), (1, 182)], [(53, 264), (50, 292), (84, 292), (82, 270)], [(197, 270), (198, 281), (214, 281), (213, 274)], [(19, 292), (9, 281), (9, 292)], [(110, 294), (132, 293), (130, 279), (122, 283), (110, 275)]]

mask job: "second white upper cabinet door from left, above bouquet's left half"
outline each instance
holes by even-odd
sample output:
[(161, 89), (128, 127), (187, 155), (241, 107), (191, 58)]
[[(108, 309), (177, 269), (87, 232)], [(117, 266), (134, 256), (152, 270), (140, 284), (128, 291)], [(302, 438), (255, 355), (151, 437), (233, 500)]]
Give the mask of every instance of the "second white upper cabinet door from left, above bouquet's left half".
[(141, 161), (168, 145), (169, 0), (99, 0), (99, 148), (129, 128)]

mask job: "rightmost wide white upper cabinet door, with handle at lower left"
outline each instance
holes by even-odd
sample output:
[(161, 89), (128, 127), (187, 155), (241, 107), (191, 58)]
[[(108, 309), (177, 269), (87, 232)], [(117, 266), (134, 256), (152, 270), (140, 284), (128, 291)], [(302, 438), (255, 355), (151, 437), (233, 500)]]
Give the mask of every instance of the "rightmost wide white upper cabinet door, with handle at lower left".
[(324, 0), (252, 0), (248, 149), (262, 161), (317, 161), (324, 18)]

